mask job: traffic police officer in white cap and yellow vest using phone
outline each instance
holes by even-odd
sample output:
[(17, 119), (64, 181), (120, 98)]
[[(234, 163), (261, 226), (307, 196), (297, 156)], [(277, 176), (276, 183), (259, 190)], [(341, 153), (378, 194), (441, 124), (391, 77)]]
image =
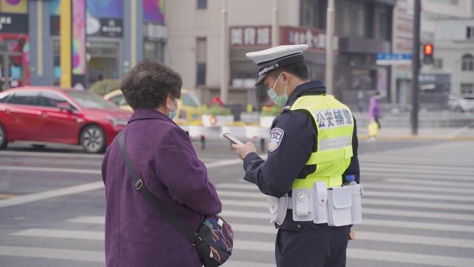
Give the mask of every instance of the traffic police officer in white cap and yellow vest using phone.
[[(283, 110), (272, 123), (266, 161), (250, 142), (233, 147), (243, 160), (244, 179), (280, 199), (295, 197), (292, 191), (308, 189), (315, 182), (341, 187), (346, 175), (359, 182), (356, 121), (346, 105), (326, 95), (324, 83), (309, 80), (306, 49), (302, 44), (247, 53), (258, 66), (256, 85), (265, 85)], [(291, 205), (288, 209), (286, 205), (284, 219), (275, 223), (277, 266), (345, 266), (349, 225), (295, 221)]]

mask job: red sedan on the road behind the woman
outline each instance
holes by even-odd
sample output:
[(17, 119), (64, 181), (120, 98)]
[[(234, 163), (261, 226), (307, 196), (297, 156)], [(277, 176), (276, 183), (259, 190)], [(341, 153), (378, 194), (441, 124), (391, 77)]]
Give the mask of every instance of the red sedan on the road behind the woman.
[(101, 153), (127, 125), (132, 112), (93, 92), (22, 87), (0, 93), (0, 149), (9, 142), (35, 146), (80, 144)]

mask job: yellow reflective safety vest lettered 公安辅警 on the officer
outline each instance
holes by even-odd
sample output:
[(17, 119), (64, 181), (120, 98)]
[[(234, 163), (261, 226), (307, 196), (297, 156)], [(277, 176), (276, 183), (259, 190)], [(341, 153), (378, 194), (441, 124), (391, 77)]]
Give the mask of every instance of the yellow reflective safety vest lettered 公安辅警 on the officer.
[(292, 189), (312, 188), (314, 182), (340, 187), (342, 173), (351, 163), (354, 121), (349, 107), (334, 96), (301, 96), (290, 110), (307, 110), (317, 129), (317, 150), (306, 165), (315, 165), (316, 171), (304, 179), (297, 178)]

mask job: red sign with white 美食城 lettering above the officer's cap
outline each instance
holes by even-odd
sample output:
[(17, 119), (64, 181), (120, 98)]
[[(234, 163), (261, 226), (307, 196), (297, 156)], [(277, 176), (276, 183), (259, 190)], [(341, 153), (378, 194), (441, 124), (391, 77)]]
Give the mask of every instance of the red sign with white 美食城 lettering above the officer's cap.
[(243, 26), (230, 28), (230, 46), (270, 46), (272, 44), (272, 27)]

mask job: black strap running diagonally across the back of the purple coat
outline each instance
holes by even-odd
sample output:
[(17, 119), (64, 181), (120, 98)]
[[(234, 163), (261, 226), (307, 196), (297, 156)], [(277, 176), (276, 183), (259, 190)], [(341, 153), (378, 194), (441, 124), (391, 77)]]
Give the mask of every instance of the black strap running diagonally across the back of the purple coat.
[(133, 167), (132, 161), (130, 160), (130, 156), (127, 152), (127, 147), (125, 146), (125, 137), (124, 137), (125, 130), (120, 132), (120, 149), (122, 150), (123, 159), (125, 160), (125, 165), (127, 166), (128, 173), (132, 175), (132, 178), (135, 182), (135, 188), (141, 193), (141, 196), (148, 200), (148, 202), (155, 207), (155, 209), (163, 216), (168, 222), (171, 223), (181, 234), (188, 239), (188, 241), (194, 246), (200, 245), (202, 243), (202, 239), (198, 236), (197, 233), (191, 231), (187, 225), (184, 225), (182, 221), (179, 221), (179, 218), (175, 216), (170, 210), (161, 203), (161, 201), (153, 195), (148, 189), (146, 188), (143, 180), (139, 178), (137, 171)]

